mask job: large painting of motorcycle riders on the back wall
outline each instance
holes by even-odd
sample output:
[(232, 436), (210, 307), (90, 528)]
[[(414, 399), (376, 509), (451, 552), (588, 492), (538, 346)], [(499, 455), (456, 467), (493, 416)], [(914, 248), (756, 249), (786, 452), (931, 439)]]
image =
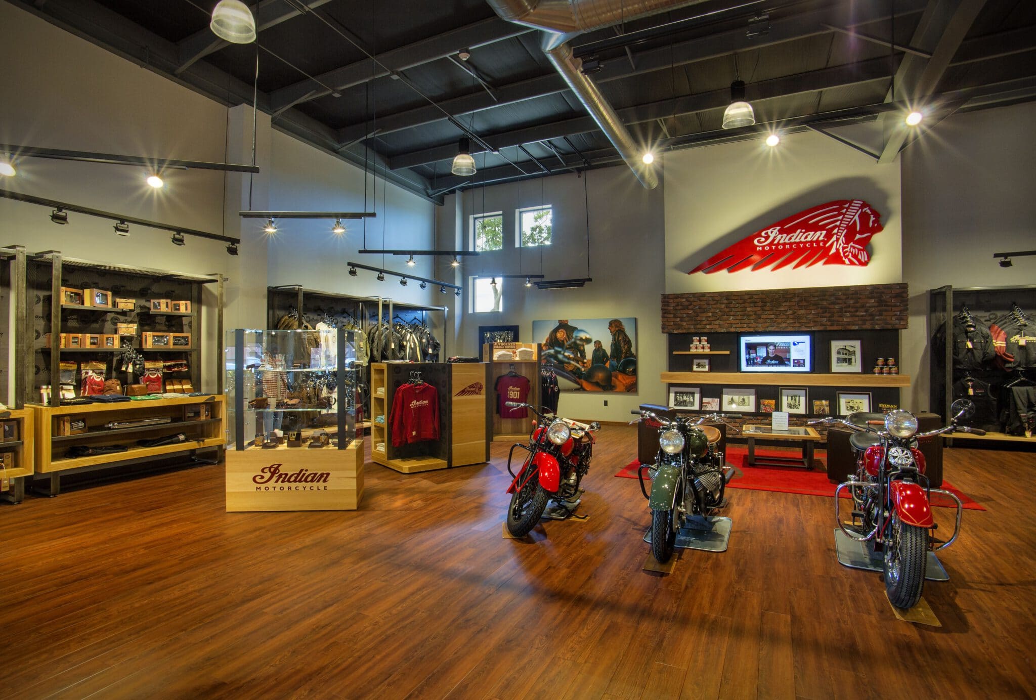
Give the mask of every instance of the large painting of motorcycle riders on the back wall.
[(533, 338), (562, 390), (637, 390), (635, 318), (533, 321)]

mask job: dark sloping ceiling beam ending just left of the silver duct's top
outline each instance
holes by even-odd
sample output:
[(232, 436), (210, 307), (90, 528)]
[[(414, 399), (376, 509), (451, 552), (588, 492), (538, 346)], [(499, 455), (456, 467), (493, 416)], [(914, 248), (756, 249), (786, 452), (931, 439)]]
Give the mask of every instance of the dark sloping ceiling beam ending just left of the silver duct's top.
[[(383, 78), (390, 75), (390, 71), (412, 68), (452, 56), (461, 49), (473, 49), (529, 31), (533, 30), (528, 27), (505, 22), (497, 17), (480, 20), (405, 47), (377, 54), (377, 61), (365, 58), (320, 74), (313, 80), (307, 78), (297, 83), (286, 85), (270, 93), (271, 105), (275, 110), (279, 110), (287, 106), (316, 99), (332, 94), (333, 90), (346, 90), (356, 85), (363, 85), (369, 80)], [(441, 112), (439, 114), (444, 116)], [(343, 141), (349, 141), (349, 139)]]

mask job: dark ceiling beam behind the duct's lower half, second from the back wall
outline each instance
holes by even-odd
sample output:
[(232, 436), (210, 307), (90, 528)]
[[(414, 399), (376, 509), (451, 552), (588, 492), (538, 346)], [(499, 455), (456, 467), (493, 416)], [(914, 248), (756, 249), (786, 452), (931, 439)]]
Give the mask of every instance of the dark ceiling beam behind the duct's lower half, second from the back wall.
[[(745, 96), (753, 104), (767, 99), (783, 97), (803, 92), (815, 92), (830, 88), (843, 87), (846, 85), (857, 85), (871, 81), (887, 81), (889, 79), (889, 62), (886, 58), (876, 58), (860, 63), (837, 66), (834, 68), (823, 68), (810, 72), (776, 78), (774, 80), (762, 81), (749, 85)], [(620, 118), (626, 124), (634, 124), (642, 121), (655, 121), (666, 117), (693, 112), (706, 112), (708, 110), (725, 108), (730, 101), (730, 91), (726, 88), (721, 90), (711, 90), (695, 94), (677, 97), (674, 99), (663, 99), (636, 107), (616, 109)], [(758, 111), (758, 106), (756, 110)], [(533, 141), (544, 139), (556, 139), (564, 136), (584, 134), (593, 132), (597, 124), (592, 117), (575, 117), (547, 124), (538, 124), (512, 132), (496, 134), (484, 137), (484, 140), (493, 148), (507, 148)], [(472, 149), (472, 154), (482, 152), (480, 149)], [(388, 158), (390, 167), (413, 168), (414, 166), (435, 163), (452, 158), (457, 154), (457, 146), (453, 143), (425, 148), (410, 153), (401, 153)]]

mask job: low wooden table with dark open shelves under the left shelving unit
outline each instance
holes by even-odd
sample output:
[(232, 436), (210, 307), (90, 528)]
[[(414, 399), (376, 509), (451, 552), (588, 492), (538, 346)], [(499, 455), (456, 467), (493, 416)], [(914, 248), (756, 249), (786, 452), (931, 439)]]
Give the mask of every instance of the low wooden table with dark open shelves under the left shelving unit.
[[(33, 413), (35, 425), (35, 472), (50, 475), (49, 493), (52, 496), (59, 493), (59, 477), (62, 472), (203, 448), (217, 448), (222, 451), (226, 443), (223, 429), (225, 404), (221, 395), (82, 406), (30, 404), (29, 408)], [(196, 415), (203, 417), (191, 417)], [(59, 421), (65, 417), (83, 418), (86, 421), (86, 432), (76, 435), (60, 435)], [(116, 429), (105, 427), (111, 421), (153, 417), (170, 417), (172, 419), (170, 422), (153, 426)], [(137, 440), (140, 439), (164, 437), (176, 433), (183, 433), (188, 440), (155, 447), (143, 447), (136, 444)], [(102, 446), (113, 444), (133, 446), (124, 451), (87, 457), (68, 457), (66, 455), (73, 445)]]

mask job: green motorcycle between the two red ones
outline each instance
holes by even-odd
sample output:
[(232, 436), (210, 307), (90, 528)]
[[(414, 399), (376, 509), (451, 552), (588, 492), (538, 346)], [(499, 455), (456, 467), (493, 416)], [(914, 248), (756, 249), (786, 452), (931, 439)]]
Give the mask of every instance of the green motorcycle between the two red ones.
[[(631, 413), (660, 428), (655, 464), (640, 465), (637, 476), (640, 490), (651, 504), (652, 553), (660, 563), (665, 563), (672, 556), (677, 533), (689, 518), (709, 516), (726, 505), (723, 493), (733, 476), (733, 469), (726, 467), (723, 453), (716, 449), (721, 437), (719, 429), (702, 424), (722, 422), (737, 430), (724, 418), (740, 418), (741, 415), (708, 413), (680, 415), (670, 420), (659, 415), (668, 412), (668, 407), (651, 408), (655, 410)], [(644, 486), (645, 470), (651, 479), (650, 493)]]

